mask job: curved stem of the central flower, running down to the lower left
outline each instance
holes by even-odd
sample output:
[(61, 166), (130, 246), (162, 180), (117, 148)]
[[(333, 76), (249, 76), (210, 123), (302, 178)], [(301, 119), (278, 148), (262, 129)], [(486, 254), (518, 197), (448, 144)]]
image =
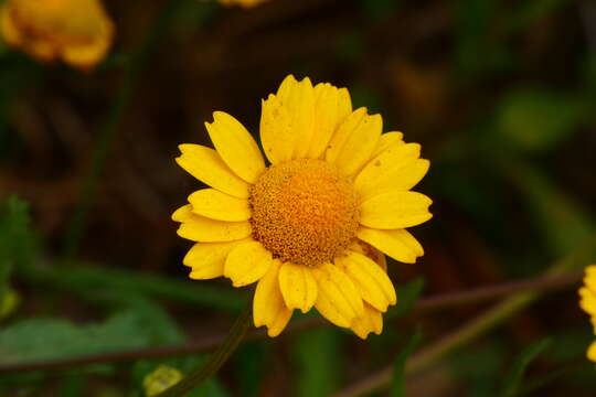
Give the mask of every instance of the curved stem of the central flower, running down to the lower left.
[(225, 364), (225, 362), (232, 356), (241, 344), (246, 331), (251, 326), (253, 318), (252, 304), (247, 304), (241, 315), (232, 325), (230, 333), (225, 341), (217, 347), (217, 350), (211, 355), (209, 362), (200, 368), (196, 368), (182, 380), (170, 387), (169, 389), (160, 393), (155, 397), (179, 397), (185, 393), (196, 388), (203, 382), (215, 375), (217, 371)]

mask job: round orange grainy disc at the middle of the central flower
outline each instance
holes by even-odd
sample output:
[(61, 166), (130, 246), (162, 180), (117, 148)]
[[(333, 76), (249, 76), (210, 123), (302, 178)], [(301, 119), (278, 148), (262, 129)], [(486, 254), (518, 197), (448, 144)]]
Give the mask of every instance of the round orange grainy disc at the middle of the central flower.
[(360, 213), (348, 179), (321, 160), (272, 165), (251, 187), (253, 238), (281, 261), (332, 261), (354, 238)]

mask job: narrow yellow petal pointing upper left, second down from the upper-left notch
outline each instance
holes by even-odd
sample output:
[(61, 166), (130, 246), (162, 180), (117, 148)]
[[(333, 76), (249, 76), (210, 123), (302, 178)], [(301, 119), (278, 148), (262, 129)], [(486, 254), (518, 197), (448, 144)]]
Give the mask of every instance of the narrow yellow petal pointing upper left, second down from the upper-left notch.
[(199, 181), (235, 197), (248, 197), (248, 184), (223, 162), (217, 152), (200, 144), (179, 146), (182, 155), (175, 162)]

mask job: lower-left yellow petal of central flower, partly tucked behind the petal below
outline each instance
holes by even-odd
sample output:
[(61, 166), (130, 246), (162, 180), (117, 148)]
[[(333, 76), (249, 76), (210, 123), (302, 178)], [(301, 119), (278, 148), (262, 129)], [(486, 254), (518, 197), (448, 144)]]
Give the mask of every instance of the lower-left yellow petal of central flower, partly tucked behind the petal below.
[(246, 239), (226, 243), (196, 243), (182, 262), (192, 268), (191, 279), (206, 280), (223, 276), (225, 258), (238, 244)]

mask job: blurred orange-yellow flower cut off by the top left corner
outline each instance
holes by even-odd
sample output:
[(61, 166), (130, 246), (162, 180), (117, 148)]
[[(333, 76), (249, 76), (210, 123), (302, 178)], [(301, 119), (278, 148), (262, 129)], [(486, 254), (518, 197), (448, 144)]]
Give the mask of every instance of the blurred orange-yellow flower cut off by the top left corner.
[(8, 0), (0, 31), (8, 44), (40, 62), (62, 60), (81, 69), (99, 63), (114, 36), (98, 0)]

